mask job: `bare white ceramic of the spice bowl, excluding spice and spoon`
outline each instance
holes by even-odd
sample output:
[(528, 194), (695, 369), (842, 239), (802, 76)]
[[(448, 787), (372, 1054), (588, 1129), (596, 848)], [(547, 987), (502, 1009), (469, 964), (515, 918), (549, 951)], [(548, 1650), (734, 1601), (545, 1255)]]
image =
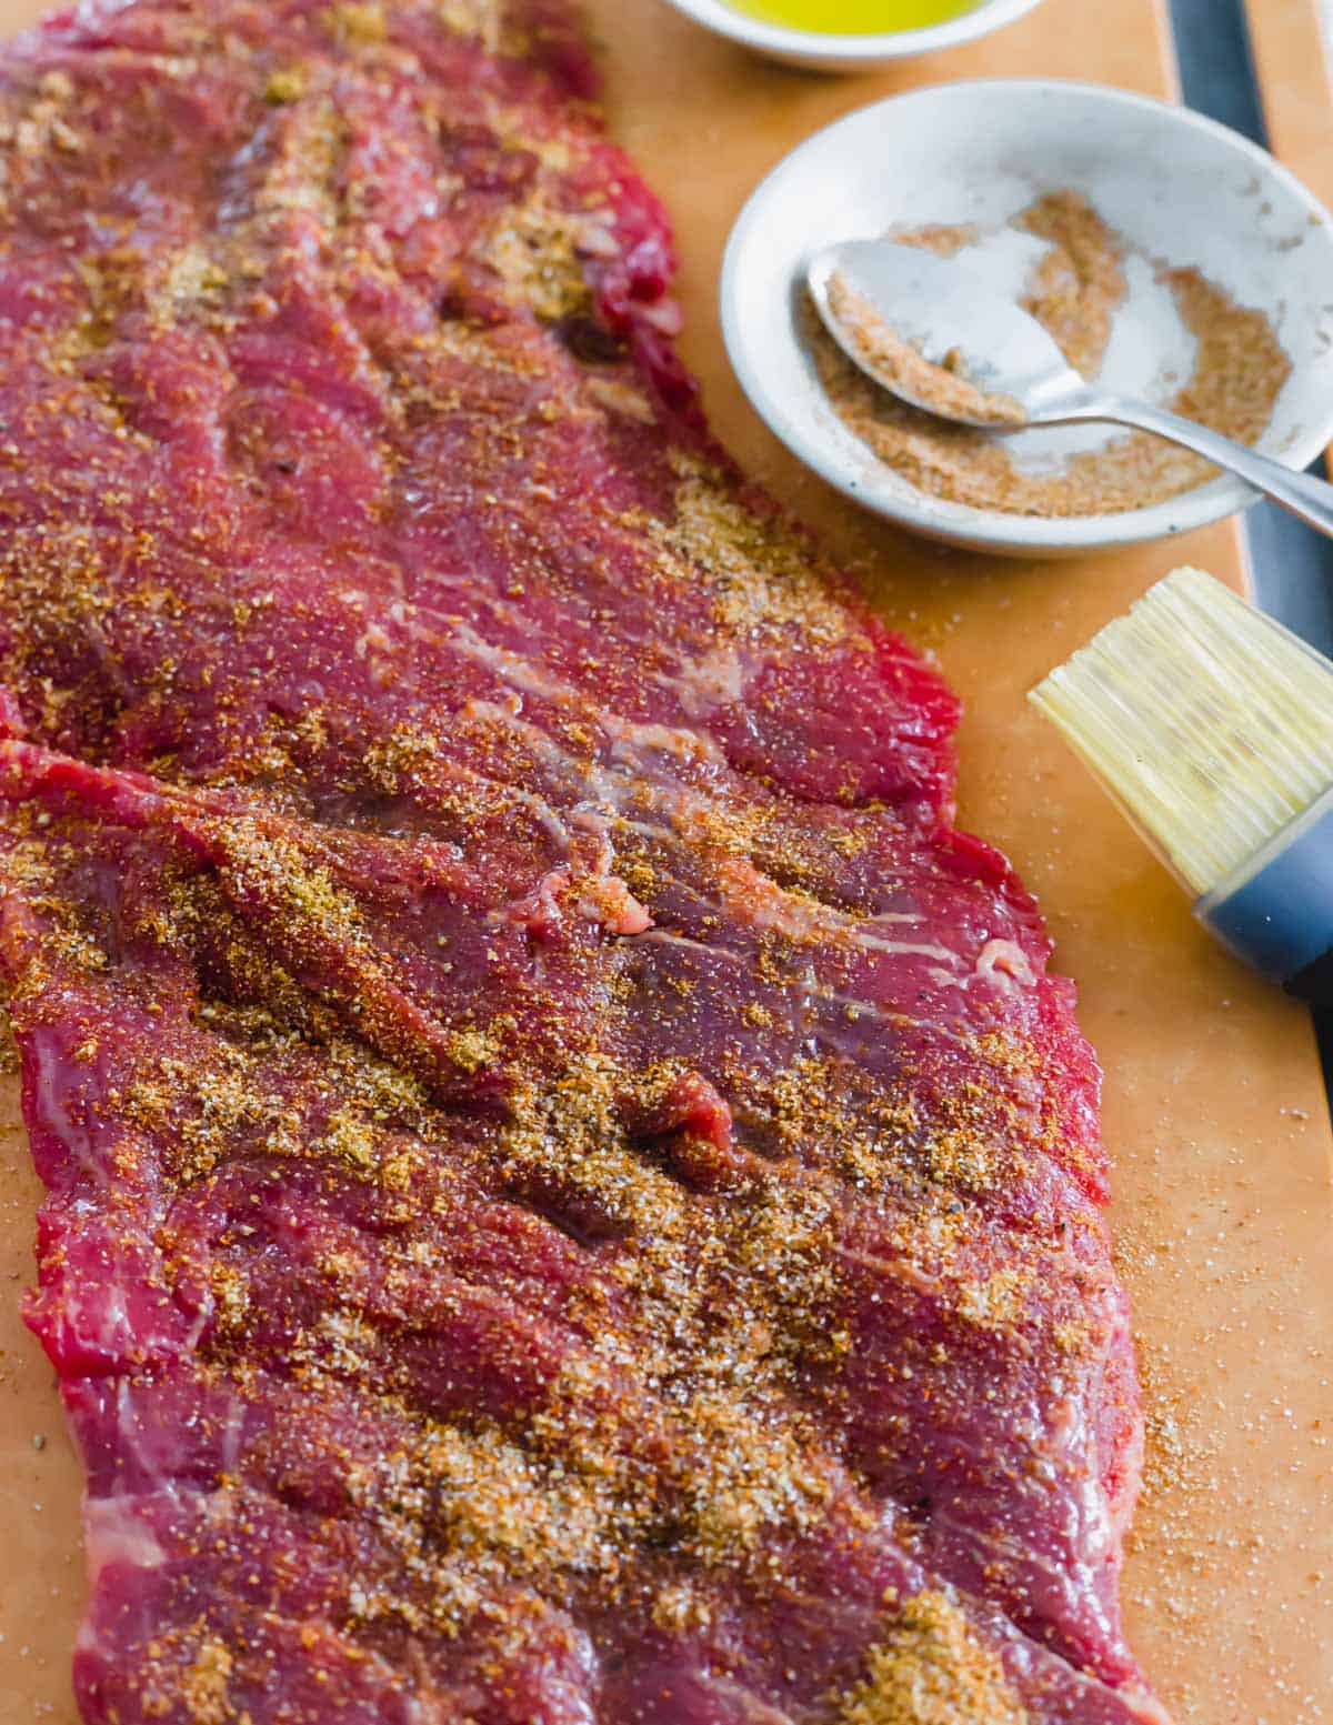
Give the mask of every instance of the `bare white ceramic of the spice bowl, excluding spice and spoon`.
[[(919, 492), (833, 412), (798, 324), (800, 283), (814, 252), (898, 224), (997, 228), (1064, 188), (1085, 193), (1148, 259), (1198, 267), (1236, 304), (1267, 314), (1292, 376), (1259, 448), (1304, 467), (1333, 442), (1328, 212), (1271, 155), (1214, 121), (1057, 79), (955, 83), (892, 97), (807, 138), (764, 179), (731, 233), (721, 286), (723, 335), (757, 412), (855, 502), (929, 538), (979, 550), (1042, 557), (1128, 545), (1254, 502), (1238, 480), (1219, 478), (1169, 502), (1107, 516), (973, 509)], [(1104, 381), (1126, 386), (1111, 367), (1112, 354)]]

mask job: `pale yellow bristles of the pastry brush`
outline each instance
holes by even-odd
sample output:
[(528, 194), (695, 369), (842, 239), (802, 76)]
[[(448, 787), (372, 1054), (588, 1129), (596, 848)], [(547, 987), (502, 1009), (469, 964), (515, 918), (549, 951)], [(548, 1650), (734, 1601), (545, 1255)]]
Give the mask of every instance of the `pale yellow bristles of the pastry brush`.
[(1176, 569), (1029, 695), (1202, 897), (1333, 785), (1333, 664)]

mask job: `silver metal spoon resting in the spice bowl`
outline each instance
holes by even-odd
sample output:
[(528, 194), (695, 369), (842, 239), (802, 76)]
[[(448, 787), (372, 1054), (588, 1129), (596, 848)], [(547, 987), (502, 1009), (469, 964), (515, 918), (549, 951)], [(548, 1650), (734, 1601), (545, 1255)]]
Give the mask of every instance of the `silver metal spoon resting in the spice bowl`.
[[(1293, 473), (1180, 414), (1088, 383), (1035, 317), (966, 264), (892, 240), (855, 240), (819, 252), (805, 279), (847, 357), (914, 407), (988, 431), (1086, 419), (1154, 431), (1226, 467), (1333, 538), (1333, 485)], [(848, 297), (859, 302), (855, 317), (848, 316)], [(900, 369), (886, 362), (874, 335), (900, 338), (926, 366)], [(954, 380), (964, 388), (954, 388)]]

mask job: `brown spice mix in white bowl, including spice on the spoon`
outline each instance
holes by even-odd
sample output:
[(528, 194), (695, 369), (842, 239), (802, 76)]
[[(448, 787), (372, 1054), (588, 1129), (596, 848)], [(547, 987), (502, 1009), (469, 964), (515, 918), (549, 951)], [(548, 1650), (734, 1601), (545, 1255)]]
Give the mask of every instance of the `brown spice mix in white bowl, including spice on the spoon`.
[[(1023, 252), (1016, 259), (1005, 242), (1028, 238), (1038, 252), (1016, 283), (1014, 298), (1055, 338), (1076, 371), (1095, 381), (1116, 338), (1121, 380), (1142, 374), (1135, 393), (1162, 397), (1174, 412), (1242, 443), (1264, 435), (1292, 374), (1262, 310), (1236, 305), (1198, 269), (1154, 264), (1130, 250), (1078, 191), (1047, 193), (993, 235), (936, 226), (893, 238), (947, 257), (976, 255), (983, 267), (998, 252), (995, 262), (1005, 273), (1023, 262)], [(1135, 304), (1131, 269), (1140, 288)], [(857, 309), (850, 310), (855, 317)], [(874, 329), (864, 345), (892, 376), (897, 367), (885, 343), (893, 342), (893, 331), (883, 319), (876, 317), (876, 324), (878, 329), (862, 319), (854, 329), (859, 342), (862, 329)], [(1102, 516), (1180, 497), (1216, 473), (1200, 455), (1147, 431), (1059, 426), (1000, 438), (940, 419), (879, 388), (854, 366), (812, 307), (807, 328), (819, 380), (838, 417), (881, 461), (933, 497), (1026, 516)], [(904, 350), (902, 366), (916, 359), (917, 367), (926, 367), (911, 343), (898, 340), (897, 348)], [(942, 412), (962, 411), (997, 426), (1023, 423), (1023, 409), (1007, 397), (983, 397), (964, 378), (947, 381), (948, 393), (940, 393), (938, 383), (911, 393), (931, 405), (938, 402)]]

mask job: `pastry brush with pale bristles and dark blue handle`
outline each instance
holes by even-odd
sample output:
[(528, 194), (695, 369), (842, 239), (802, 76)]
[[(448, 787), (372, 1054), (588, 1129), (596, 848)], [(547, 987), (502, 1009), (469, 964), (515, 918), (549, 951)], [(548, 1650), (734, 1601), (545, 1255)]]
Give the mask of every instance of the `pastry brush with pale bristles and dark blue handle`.
[(1204, 926), (1333, 1004), (1333, 664), (1221, 581), (1176, 569), (1028, 699)]

